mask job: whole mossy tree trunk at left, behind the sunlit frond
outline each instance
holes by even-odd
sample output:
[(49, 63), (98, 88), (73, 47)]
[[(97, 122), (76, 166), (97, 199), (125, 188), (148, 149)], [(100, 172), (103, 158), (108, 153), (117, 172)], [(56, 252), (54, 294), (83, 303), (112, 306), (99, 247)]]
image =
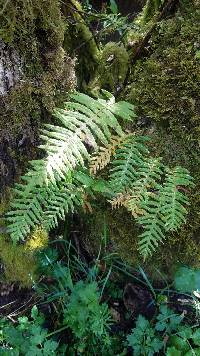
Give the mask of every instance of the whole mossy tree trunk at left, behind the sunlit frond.
[(90, 62), (96, 61), (97, 47), (80, 13), (74, 0), (0, 5), (1, 198), (28, 160), (37, 157), (42, 123), (51, 120), (54, 107), (76, 87), (75, 60), (68, 54), (73, 55), (74, 43), (87, 42), (90, 72)]

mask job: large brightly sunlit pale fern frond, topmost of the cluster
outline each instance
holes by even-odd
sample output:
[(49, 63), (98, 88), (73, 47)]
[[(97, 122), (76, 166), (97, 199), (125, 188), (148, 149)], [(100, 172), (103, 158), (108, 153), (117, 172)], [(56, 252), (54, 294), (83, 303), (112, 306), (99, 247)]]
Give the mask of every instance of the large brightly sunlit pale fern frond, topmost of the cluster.
[[(57, 109), (55, 117), (64, 127), (45, 125), (42, 130), (47, 152), (46, 171), (50, 181), (55, 181), (77, 165), (84, 166), (89, 160), (88, 145), (98, 147), (97, 142), (109, 143), (112, 132), (123, 135), (116, 117), (109, 110), (109, 105), (81, 93), (71, 95), (76, 102), (65, 103), (65, 109)], [(120, 103), (119, 103), (120, 105)]]

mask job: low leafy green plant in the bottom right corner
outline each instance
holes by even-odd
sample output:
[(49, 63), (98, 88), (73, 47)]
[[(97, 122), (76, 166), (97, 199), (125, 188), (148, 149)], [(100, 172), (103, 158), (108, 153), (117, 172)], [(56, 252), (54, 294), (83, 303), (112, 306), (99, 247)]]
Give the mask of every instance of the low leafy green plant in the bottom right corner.
[(139, 315), (127, 337), (133, 355), (198, 355), (200, 328), (184, 324), (183, 320), (184, 314), (176, 314), (166, 305), (160, 306), (155, 322)]

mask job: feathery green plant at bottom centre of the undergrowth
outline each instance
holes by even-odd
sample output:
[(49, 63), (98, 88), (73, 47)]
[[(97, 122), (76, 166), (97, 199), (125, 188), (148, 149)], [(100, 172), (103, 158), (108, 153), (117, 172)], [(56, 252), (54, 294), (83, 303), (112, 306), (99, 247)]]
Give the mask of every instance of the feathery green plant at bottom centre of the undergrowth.
[(108, 334), (111, 316), (107, 304), (100, 304), (100, 294), (95, 282), (77, 282), (70, 294), (64, 310), (66, 324), (75, 338), (79, 352), (99, 350), (99, 354), (108, 349), (111, 339)]

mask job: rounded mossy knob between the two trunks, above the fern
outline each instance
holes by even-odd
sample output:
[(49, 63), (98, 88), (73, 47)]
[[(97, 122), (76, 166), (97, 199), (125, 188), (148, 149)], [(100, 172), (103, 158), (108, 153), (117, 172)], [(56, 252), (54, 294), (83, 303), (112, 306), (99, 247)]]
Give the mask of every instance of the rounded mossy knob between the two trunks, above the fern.
[(115, 92), (126, 77), (129, 55), (123, 45), (109, 42), (105, 45), (99, 65), (101, 87)]

